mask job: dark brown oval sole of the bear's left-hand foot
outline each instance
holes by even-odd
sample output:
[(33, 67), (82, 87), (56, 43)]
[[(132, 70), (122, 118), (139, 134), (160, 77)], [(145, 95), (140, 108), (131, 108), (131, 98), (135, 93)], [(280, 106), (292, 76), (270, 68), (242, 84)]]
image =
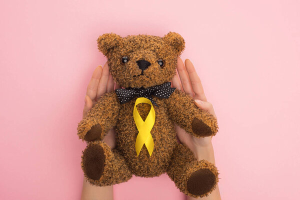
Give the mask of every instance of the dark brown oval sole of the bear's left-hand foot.
[(86, 176), (98, 180), (104, 169), (105, 155), (102, 146), (91, 144), (83, 151), (82, 167)]

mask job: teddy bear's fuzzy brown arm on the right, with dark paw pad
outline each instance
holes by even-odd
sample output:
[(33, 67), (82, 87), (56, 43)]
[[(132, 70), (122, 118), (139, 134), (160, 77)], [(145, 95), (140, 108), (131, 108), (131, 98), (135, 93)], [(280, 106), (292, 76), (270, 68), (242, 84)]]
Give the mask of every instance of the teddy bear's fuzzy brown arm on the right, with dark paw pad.
[(168, 114), (177, 125), (196, 137), (215, 135), (216, 118), (198, 108), (194, 100), (184, 92), (175, 91), (166, 99)]

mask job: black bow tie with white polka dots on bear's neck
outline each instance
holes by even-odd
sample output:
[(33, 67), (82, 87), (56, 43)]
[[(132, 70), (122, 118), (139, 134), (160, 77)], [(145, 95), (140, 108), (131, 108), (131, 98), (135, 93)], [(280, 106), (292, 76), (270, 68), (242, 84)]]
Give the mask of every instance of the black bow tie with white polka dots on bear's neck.
[(126, 103), (130, 101), (134, 97), (145, 97), (151, 101), (153, 105), (158, 106), (152, 98), (156, 96), (158, 98), (168, 98), (176, 87), (171, 87), (171, 82), (166, 82), (161, 85), (156, 85), (148, 88), (140, 87), (140, 88), (132, 88), (128, 87), (125, 89), (118, 88), (115, 89), (115, 94), (119, 99), (120, 103)]

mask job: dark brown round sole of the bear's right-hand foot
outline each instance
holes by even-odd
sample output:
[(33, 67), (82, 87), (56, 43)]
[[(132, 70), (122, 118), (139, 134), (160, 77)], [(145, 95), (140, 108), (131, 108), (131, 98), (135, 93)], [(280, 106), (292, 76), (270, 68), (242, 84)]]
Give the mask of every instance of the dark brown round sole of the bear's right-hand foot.
[(187, 191), (193, 195), (203, 195), (212, 190), (216, 177), (207, 168), (194, 171), (187, 180)]

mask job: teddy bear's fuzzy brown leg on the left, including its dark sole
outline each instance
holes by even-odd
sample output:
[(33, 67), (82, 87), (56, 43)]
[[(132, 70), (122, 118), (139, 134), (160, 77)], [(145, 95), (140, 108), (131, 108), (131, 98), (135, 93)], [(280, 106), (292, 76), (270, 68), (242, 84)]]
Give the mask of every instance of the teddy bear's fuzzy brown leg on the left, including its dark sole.
[(87, 180), (97, 186), (107, 186), (129, 180), (132, 176), (125, 159), (103, 141), (90, 142), (81, 156), (81, 167)]

